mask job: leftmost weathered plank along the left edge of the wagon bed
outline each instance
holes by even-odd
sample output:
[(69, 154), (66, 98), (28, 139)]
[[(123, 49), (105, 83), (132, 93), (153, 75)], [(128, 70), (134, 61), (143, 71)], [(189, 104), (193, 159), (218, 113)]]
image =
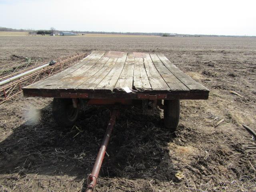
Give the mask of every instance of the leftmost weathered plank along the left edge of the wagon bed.
[(50, 76), (44, 80), (40, 80), (34, 84), (29, 85), (29, 88), (34, 88), (34, 87), (40, 87), (43, 88), (44, 86), (53, 86), (57, 85), (58, 81), (66, 76), (67, 74), (70, 74), (71, 72), (78, 70), (81, 66), (85, 65), (88, 61), (90, 61), (92, 58), (94, 58), (99, 51), (93, 51), (90, 55), (88, 55), (86, 58), (82, 59), (78, 64), (75, 64), (66, 70), (59, 72), (57, 74), (54, 74), (53, 76)]

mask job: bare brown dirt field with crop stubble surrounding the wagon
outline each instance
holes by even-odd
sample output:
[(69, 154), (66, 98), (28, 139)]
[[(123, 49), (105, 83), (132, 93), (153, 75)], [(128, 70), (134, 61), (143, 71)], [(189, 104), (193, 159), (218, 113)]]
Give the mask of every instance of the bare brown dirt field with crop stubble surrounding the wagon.
[[(241, 126), (256, 130), (256, 38), (0, 36), (0, 64), (92, 50), (162, 52), (210, 89), (208, 100), (181, 101), (176, 136), (161, 110), (123, 109), (95, 191), (256, 191), (256, 141)], [(0, 190), (75, 192), (86, 183), (110, 110), (90, 107), (63, 129), (51, 102), (20, 95), (0, 105)]]

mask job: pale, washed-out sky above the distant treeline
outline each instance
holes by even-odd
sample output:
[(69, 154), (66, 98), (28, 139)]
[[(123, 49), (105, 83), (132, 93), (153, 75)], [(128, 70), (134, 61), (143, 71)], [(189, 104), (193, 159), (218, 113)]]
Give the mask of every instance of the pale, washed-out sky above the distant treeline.
[(256, 36), (256, 0), (0, 0), (0, 27)]

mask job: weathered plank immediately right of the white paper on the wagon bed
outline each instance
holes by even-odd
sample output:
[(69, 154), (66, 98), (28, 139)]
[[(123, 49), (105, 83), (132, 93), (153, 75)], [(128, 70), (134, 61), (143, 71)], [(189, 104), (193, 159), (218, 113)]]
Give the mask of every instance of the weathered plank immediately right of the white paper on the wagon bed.
[(136, 57), (134, 60), (133, 86), (140, 92), (152, 90), (144, 66), (143, 58)]

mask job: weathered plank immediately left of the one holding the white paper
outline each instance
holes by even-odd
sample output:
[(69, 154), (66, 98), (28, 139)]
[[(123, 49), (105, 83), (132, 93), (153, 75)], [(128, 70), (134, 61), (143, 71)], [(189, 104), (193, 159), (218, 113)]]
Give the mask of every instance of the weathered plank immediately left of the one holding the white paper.
[(94, 91), (112, 92), (116, 86), (116, 82), (124, 68), (127, 52), (117, 59), (112, 70), (102, 79), (102, 81), (94, 88)]

